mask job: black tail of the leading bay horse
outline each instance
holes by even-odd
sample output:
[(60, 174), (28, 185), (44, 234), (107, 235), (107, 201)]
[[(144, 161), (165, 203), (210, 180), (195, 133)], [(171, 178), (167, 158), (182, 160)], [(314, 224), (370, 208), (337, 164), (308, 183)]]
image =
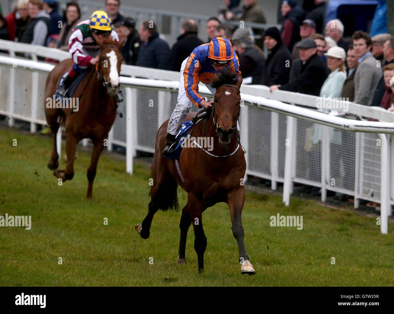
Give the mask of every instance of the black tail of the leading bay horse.
[(151, 186), (149, 196), (155, 206), (163, 212), (167, 210), (177, 212), (179, 210), (177, 187), (177, 181), (168, 173), (164, 181), (160, 183), (158, 187), (154, 185)]

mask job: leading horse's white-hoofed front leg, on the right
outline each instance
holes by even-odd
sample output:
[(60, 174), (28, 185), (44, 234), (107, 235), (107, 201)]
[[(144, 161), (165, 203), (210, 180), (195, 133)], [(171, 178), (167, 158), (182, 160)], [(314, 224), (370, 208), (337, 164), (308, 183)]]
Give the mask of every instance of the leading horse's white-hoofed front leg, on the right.
[(232, 223), (232, 235), (237, 240), (238, 251), (240, 253), (241, 274), (254, 275), (256, 273), (252, 264), (249, 262), (249, 256), (246, 254), (245, 243), (243, 242), (243, 227), (242, 227), (242, 208), (245, 203), (245, 191), (243, 186), (237, 190), (233, 190), (227, 194), (226, 203), (230, 208), (230, 217)]

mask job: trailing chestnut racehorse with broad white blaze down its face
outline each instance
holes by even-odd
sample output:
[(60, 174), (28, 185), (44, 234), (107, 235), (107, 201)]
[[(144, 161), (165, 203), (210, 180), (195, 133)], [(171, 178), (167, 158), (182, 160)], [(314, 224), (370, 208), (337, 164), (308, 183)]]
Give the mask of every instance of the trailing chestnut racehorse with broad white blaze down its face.
[[(81, 139), (90, 138), (93, 142), (93, 152), (90, 166), (87, 169), (87, 198), (92, 197), (93, 180), (96, 175), (97, 162), (108, 140), (108, 132), (116, 117), (116, 102), (114, 96), (119, 90), (119, 73), (123, 57), (120, 47), (123, 41), (117, 42), (111, 39), (93, 37), (100, 46), (100, 59), (97, 66), (92, 66), (78, 84), (73, 97), (79, 97), (78, 111), (72, 108), (47, 108), (47, 99), (52, 98), (61, 76), (71, 69), (74, 61), (65, 59), (61, 61), (49, 73), (45, 88), (45, 116), (46, 122), (52, 131), (52, 156), (48, 162), (51, 170), (59, 166), (58, 152), (56, 147), (56, 133), (59, 124), (66, 130), (66, 155), (67, 165), (65, 170), (55, 170), (54, 175), (63, 181), (71, 180), (74, 176), (74, 159), (76, 145)], [(97, 72), (97, 73), (96, 73)]]

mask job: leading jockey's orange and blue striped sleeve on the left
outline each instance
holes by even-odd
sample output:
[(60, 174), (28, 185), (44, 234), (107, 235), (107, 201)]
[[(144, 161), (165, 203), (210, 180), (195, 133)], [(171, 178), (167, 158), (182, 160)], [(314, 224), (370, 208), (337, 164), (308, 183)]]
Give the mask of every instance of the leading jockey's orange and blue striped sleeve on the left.
[(186, 62), (185, 70), (183, 72), (183, 78), (185, 83), (186, 96), (190, 101), (199, 106), (201, 100), (204, 97), (198, 94), (198, 84), (200, 82), (199, 73), (201, 71), (201, 64), (199, 59), (193, 54), (190, 54), (188, 61)]

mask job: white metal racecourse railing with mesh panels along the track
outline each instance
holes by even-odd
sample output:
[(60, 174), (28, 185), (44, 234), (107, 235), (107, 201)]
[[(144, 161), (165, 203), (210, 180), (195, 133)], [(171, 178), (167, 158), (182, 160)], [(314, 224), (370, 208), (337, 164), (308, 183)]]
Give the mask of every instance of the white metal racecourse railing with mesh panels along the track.
[[(2, 41), (0, 41), (1, 44)], [(7, 42), (6, 45), (8, 45), (7, 49), (11, 50), (11, 55), (21, 51), (56, 59), (55, 49), (10, 42)], [(26, 46), (25, 49), (21, 45)], [(62, 54), (64, 52), (58, 52), (60, 53), (57, 56), (58, 59), (64, 59), (65, 55)], [(9, 116), (10, 125), (13, 124), (13, 119), (29, 121), (31, 132), (35, 132), (36, 124), (46, 123), (43, 106), (40, 103), (43, 103), (41, 98), (43, 98), (46, 74), (53, 67), (54, 65), (43, 62), (0, 56), (0, 77), (2, 78), (1, 84), (3, 87), (0, 91), (0, 99), (3, 100), (0, 102), (0, 114)], [(124, 119), (115, 120), (108, 139), (109, 150), (112, 149), (113, 145), (126, 148), (126, 171), (132, 173), (132, 157), (135, 156), (136, 150), (154, 151), (154, 137), (157, 128), (169, 117), (176, 103), (179, 74), (177, 72), (128, 65), (122, 66), (121, 73), (145, 77), (121, 76), (121, 84), (125, 88), (126, 97), (125, 102), (120, 104), (119, 109), (122, 110), (125, 117)], [(159, 78), (160, 80), (158, 80)], [(167, 79), (167, 81), (164, 79)], [(19, 90), (22, 92), (18, 92)], [(391, 215), (391, 204), (393, 203), (394, 195), (394, 184), (390, 182), (393, 180), (393, 176), (390, 177), (390, 175), (393, 174), (394, 167), (389, 164), (389, 156), (394, 156), (394, 145), (391, 145), (385, 133), (394, 133), (394, 115), (392, 113), (350, 103), (349, 113), (388, 122), (357, 121), (330, 116), (322, 112), (296, 106), (299, 104), (316, 109), (316, 101), (319, 100), (319, 97), (283, 91), (270, 93), (268, 87), (256, 85), (242, 85), (241, 91), (242, 99), (248, 105), (242, 107), (240, 121), (242, 143), (247, 149), (245, 155), (247, 160), (246, 175), (257, 175), (258, 177), (271, 180), (273, 189), (277, 188), (277, 182), (283, 182), (283, 201), (286, 205), (290, 201), (292, 182), (300, 182), (322, 188), (322, 201), (325, 201), (327, 190), (354, 195), (356, 208), (359, 205), (359, 199), (378, 201), (381, 203), (381, 232), (387, 233), (387, 216)], [(203, 95), (212, 97), (204, 85), (200, 86), (200, 92)], [(152, 111), (148, 112), (147, 99), (151, 100), (153, 98), (157, 106), (155, 105)], [(22, 102), (29, 106), (25, 107), (25, 104), (22, 104)], [(283, 102), (289, 102), (290, 105)], [(264, 116), (260, 117), (259, 115), (261, 114)], [(253, 122), (253, 119), (258, 122)], [(269, 125), (265, 126), (265, 123), (261, 122), (262, 119), (266, 119), (264, 121), (267, 121)], [(153, 121), (156, 121), (157, 124), (152, 124)], [(297, 140), (303, 128), (305, 129), (305, 125), (302, 123), (323, 125), (322, 127), (325, 130), (320, 146), (321, 162), (315, 160), (319, 162), (320, 167), (321, 178), (318, 180), (302, 177), (296, 173), (297, 160), (302, 159), (301, 155), (303, 153), (298, 152), (300, 145), (297, 145)], [(269, 134), (264, 134), (261, 131), (264, 127)], [(354, 145), (352, 150), (355, 150), (354, 187), (330, 185), (329, 159), (333, 151), (330, 148), (329, 130), (333, 130), (333, 128), (343, 130), (341, 132), (346, 134), (358, 132), (352, 144)], [(255, 143), (253, 140), (255, 133), (258, 133), (259, 138), (267, 142), (263, 143), (264, 145)], [(368, 137), (368, 133), (371, 136), (373, 136), (372, 133), (377, 134), (381, 142), (377, 154), (374, 152), (375, 155), (372, 157), (368, 157), (368, 154), (371, 154), (371, 145), (368, 146), (368, 141), (373, 143), (374, 138)], [(59, 132), (58, 135), (60, 141), (61, 133)], [(288, 141), (290, 145), (284, 145), (282, 143), (284, 140)], [(262, 159), (260, 146), (264, 146), (263, 154), (266, 154), (264, 150), (268, 150), (268, 154), (264, 155), (266, 157)], [(61, 147), (61, 145), (58, 145), (58, 147)], [(376, 145), (373, 148), (376, 150)], [(256, 156), (258, 157), (258, 167), (253, 165), (256, 164)], [(364, 166), (370, 160), (373, 160), (376, 165)], [(264, 169), (261, 169), (261, 165)], [(311, 171), (310, 169), (303, 170)], [(366, 187), (365, 184), (365, 182), (370, 180), (368, 171), (372, 171), (372, 173), (380, 171), (381, 173), (381, 175), (374, 175), (376, 179), (375, 185), (377, 184), (377, 186), (372, 188), (372, 190)]]

